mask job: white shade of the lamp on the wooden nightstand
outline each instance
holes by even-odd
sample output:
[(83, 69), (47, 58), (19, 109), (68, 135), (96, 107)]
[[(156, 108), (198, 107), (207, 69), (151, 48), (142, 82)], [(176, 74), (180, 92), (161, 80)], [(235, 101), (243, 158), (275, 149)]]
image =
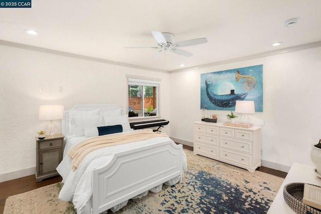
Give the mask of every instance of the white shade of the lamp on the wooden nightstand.
[(39, 118), (40, 121), (52, 121), (63, 119), (62, 105), (40, 105)]

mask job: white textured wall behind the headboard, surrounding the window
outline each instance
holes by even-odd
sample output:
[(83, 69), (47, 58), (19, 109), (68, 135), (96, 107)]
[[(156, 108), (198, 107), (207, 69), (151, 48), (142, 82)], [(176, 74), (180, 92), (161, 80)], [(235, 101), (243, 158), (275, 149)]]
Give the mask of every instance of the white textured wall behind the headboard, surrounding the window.
[[(0, 46), (0, 182), (35, 173), (39, 105), (127, 104), (126, 75), (161, 79), (162, 118), (170, 120), (170, 75)], [(44, 91), (39, 92), (39, 85)], [(63, 86), (63, 92), (59, 92)], [(60, 121), (55, 121), (60, 126)], [(170, 125), (163, 128), (170, 134)]]

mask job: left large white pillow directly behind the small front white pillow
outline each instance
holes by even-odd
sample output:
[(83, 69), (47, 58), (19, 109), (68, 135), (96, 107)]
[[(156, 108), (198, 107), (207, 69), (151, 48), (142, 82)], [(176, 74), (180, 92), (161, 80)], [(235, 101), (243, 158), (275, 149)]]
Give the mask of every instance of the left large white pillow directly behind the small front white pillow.
[(85, 136), (83, 128), (102, 126), (103, 121), (101, 115), (78, 116), (70, 119), (70, 125), (70, 137), (80, 137)]

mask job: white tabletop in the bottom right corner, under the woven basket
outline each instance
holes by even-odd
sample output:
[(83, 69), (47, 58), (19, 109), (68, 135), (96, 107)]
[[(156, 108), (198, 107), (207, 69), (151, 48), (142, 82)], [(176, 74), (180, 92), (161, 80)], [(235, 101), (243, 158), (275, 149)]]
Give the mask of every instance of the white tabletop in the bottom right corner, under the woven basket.
[(313, 172), (315, 167), (293, 163), (267, 213), (295, 213), (283, 198), (283, 188), (288, 183), (310, 183), (321, 186), (321, 178)]

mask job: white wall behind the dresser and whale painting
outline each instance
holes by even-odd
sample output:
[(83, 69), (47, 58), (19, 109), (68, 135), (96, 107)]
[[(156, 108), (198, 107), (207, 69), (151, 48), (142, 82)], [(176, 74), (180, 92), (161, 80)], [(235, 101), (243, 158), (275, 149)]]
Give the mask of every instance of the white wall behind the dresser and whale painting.
[[(193, 122), (201, 120), (201, 73), (263, 64), (262, 165), (287, 171), (293, 162), (313, 165), (310, 145), (321, 138), (321, 48), (311, 48), (171, 74), (171, 137), (192, 144)], [(210, 111), (218, 122), (228, 111)], [(239, 115), (240, 116), (240, 115)]]

